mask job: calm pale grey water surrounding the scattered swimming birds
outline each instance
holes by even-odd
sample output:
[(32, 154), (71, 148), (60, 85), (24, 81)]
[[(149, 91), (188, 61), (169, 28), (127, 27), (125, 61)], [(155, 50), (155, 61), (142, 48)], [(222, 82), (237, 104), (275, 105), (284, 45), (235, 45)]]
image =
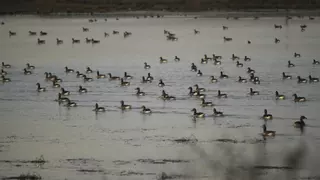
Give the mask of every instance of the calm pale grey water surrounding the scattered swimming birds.
[[(82, 18), (38, 18), (2, 17), (6, 24), (0, 28), (1, 61), (13, 67), (7, 69), (11, 83), (0, 85), (1, 146), (0, 175), (17, 176), (20, 173), (37, 172), (45, 179), (155, 179), (161, 172), (184, 174), (194, 179), (219, 179), (210, 173), (203, 163), (203, 157), (190, 143), (176, 140), (196, 137), (197, 146), (203, 148), (212, 158), (226, 161), (227, 156), (219, 148), (221, 139), (237, 140), (231, 144), (241, 156), (253, 158), (256, 149), (264, 148), (263, 156), (269, 164), (281, 165), (287, 151), (301, 140), (300, 132), (292, 127), (300, 115), (307, 116), (308, 127), (303, 136), (308, 147), (308, 161), (303, 175), (316, 170), (319, 164), (320, 123), (319, 109), (320, 84), (297, 84), (296, 76), (309, 74), (320, 76), (320, 66), (312, 65), (312, 59), (319, 55), (319, 20), (293, 19), (286, 25), (284, 18), (251, 18), (226, 20), (219, 18), (163, 18), (131, 19), (119, 21), (98, 19), (89, 23)], [(283, 28), (274, 29), (274, 24)], [(307, 24), (305, 32), (300, 24)], [(229, 30), (223, 31), (222, 25)], [(82, 32), (88, 27), (89, 32)], [(167, 41), (163, 30), (177, 34), (178, 41)], [(193, 29), (200, 31), (194, 35)], [(8, 36), (8, 31), (17, 36)], [(38, 36), (29, 36), (28, 31), (46, 31), (48, 36), (40, 37), (46, 44), (38, 45)], [(119, 30), (120, 35), (112, 35)], [(122, 32), (130, 31), (132, 36), (123, 38)], [(104, 32), (110, 34), (104, 38)], [(233, 41), (223, 42), (223, 36)], [(101, 40), (100, 44), (86, 44), (85, 38)], [(274, 44), (274, 38), (281, 40)], [(64, 44), (57, 46), (56, 38)], [(72, 44), (71, 38), (81, 39), (80, 44)], [(247, 44), (251, 40), (252, 44)], [(294, 58), (294, 52), (301, 58)], [(223, 56), (222, 65), (200, 64), (204, 54)], [(232, 53), (252, 58), (238, 68), (232, 61)], [(177, 55), (180, 62), (174, 62)], [(160, 64), (159, 57), (169, 59)], [(287, 68), (287, 61), (296, 64)], [(22, 69), (26, 63), (36, 66), (34, 74), (25, 76)], [(143, 69), (143, 63), (152, 66)], [(194, 62), (203, 72), (197, 77), (190, 71)], [(68, 66), (80, 72), (85, 67), (101, 73), (123, 76), (126, 71), (134, 76), (129, 87), (120, 87), (118, 81), (94, 79), (84, 83), (75, 73), (66, 74)], [(235, 82), (238, 76), (247, 77), (246, 68), (256, 70), (261, 79), (260, 85)], [(220, 71), (230, 76), (219, 83), (209, 83), (209, 76), (219, 76)], [(71, 91), (70, 99), (78, 107), (68, 109), (54, 100), (59, 89), (51, 88), (45, 81), (44, 72), (53, 72), (63, 79), (62, 87)], [(141, 84), (141, 76), (150, 72), (155, 80), (152, 84)], [(281, 73), (294, 76), (293, 80), (283, 81)], [(95, 77), (95, 74), (89, 74)], [(166, 86), (159, 88), (158, 80), (163, 79)], [(36, 83), (47, 87), (47, 92), (37, 93)], [(194, 84), (205, 87), (207, 100), (213, 101), (216, 108), (223, 111), (223, 118), (208, 117), (196, 122), (190, 117), (192, 108), (212, 114), (212, 108), (201, 108), (200, 101), (190, 98), (187, 88)], [(89, 92), (77, 93), (83, 85)], [(140, 87), (147, 93), (136, 97), (134, 88)], [(260, 91), (259, 96), (248, 96), (249, 88)], [(176, 101), (164, 102), (158, 97), (161, 90), (177, 97)], [(217, 90), (229, 95), (218, 99)], [(287, 100), (276, 101), (274, 92), (285, 94)], [(305, 96), (305, 103), (294, 103), (292, 94)], [(122, 112), (120, 101), (131, 104), (133, 109)], [(105, 113), (94, 113), (94, 104), (106, 107)], [(140, 114), (140, 107), (146, 105), (154, 113)], [(268, 122), (268, 129), (277, 132), (274, 139), (261, 143), (260, 119), (263, 109), (273, 114), (274, 120)], [(5, 163), (4, 160), (33, 160), (43, 155), (48, 163), (41, 167), (33, 164)], [(279, 158), (280, 157), (280, 158)], [(185, 160), (182, 162), (160, 163), (147, 160)], [(18, 165), (17, 165), (18, 164)], [(86, 172), (95, 170), (97, 172)], [(189, 178), (190, 178), (189, 177)], [(181, 177), (180, 177), (181, 178)], [(183, 178), (183, 177), (182, 177)]]

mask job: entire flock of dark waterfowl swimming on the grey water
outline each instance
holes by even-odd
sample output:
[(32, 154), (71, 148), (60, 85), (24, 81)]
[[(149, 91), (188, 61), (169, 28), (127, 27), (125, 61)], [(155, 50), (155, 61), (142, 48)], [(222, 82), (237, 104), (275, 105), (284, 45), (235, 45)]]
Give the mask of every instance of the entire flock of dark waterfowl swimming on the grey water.
[[(257, 18), (255, 18), (255, 19), (257, 19)], [(310, 20), (313, 20), (313, 19), (310, 19)], [(274, 28), (282, 29), (282, 25), (275, 24)], [(301, 25), (300, 28), (301, 28), (301, 31), (305, 31), (305, 29), (307, 28), (307, 25)], [(228, 27), (227, 26), (222, 26), (222, 29), (223, 30), (228, 30)], [(82, 31), (83, 32), (87, 32), (87, 31), (89, 31), (89, 29), (83, 27)], [(119, 34), (118, 31), (113, 31), (112, 33), (113, 34)], [(47, 35), (47, 33), (43, 32), (43, 31), (41, 31), (39, 34), (40, 34), (40, 36), (46, 36)], [(174, 33), (170, 32), (170, 31), (168, 31), (168, 30), (164, 30), (164, 34), (166, 35), (168, 40), (178, 40), (176, 35)], [(200, 31), (194, 29), (194, 34), (200, 34)], [(17, 35), (16, 32), (9, 31), (9, 36), (16, 36), (16, 35)], [(37, 32), (29, 31), (29, 35), (30, 36), (35, 36), (35, 35), (37, 35)], [(130, 35), (131, 35), (131, 32), (124, 32), (124, 37), (130, 36)], [(109, 36), (109, 34), (105, 33), (105, 37), (107, 37), (107, 36)], [(225, 42), (232, 41), (232, 38), (223, 37), (223, 40)], [(99, 40), (94, 40), (94, 39), (89, 39), (89, 38), (86, 38), (85, 41), (87, 43), (92, 43), (92, 44), (100, 42)], [(38, 44), (44, 44), (45, 40), (38, 39), (37, 42), (38, 42)], [(279, 42), (280, 42), (280, 39), (275, 38), (275, 43), (279, 43)], [(62, 43), (63, 43), (63, 40), (57, 39), (57, 44), (62, 44)], [(80, 40), (72, 38), (72, 43), (80, 43)], [(251, 44), (251, 40), (248, 40), (248, 44)], [(293, 57), (294, 58), (300, 58), (301, 55), (299, 53), (294, 53)], [(251, 58), (248, 57), (248, 56), (245, 56), (244, 58), (240, 58), (239, 56), (237, 56), (235, 54), (232, 54), (230, 59), (234, 62), (235, 66), (238, 67), (238, 68), (243, 68), (244, 67), (244, 64), (242, 62), (240, 62), (241, 59), (243, 59), (244, 62), (250, 62), (251, 61)], [(178, 56), (175, 56), (175, 57), (173, 57), (172, 61), (179, 62), (180, 58)], [(227, 58), (223, 58), (222, 56), (219, 56), (217, 54), (212, 54), (212, 56), (208, 56), (208, 55), (205, 54), (204, 57), (200, 58), (199, 64), (213, 64), (213, 65), (219, 66), (224, 61), (227, 61)], [(252, 61), (254, 61), (254, 60), (252, 60)], [(164, 63), (168, 63), (168, 62), (169, 62), (169, 60), (165, 59), (163, 57), (160, 57), (160, 59), (159, 59), (159, 63), (160, 64), (164, 64)], [(312, 65), (313, 66), (320, 65), (320, 62), (318, 60), (313, 59), (313, 60), (310, 61), (310, 66), (312, 66)], [(289, 60), (287, 68), (294, 68), (294, 67), (295, 67), (295, 64)], [(10, 68), (11, 68), (10, 64), (5, 64), (4, 62), (2, 62), (2, 69), (1, 69), (1, 77), (2, 78), (1, 78), (1, 81), (3, 83), (8, 83), (8, 82), (11, 81), (10, 78), (7, 77), (7, 71), (6, 71), (7, 69), (10, 69)], [(151, 69), (151, 68), (152, 68), (152, 66), (150, 64), (148, 64), (147, 62), (145, 62), (144, 65), (141, 65), (141, 69), (148, 70), (148, 69)], [(36, 69), (36, 67), (33, 66), (33, 65), (30, 65), (28, 63), (28, 64), (26, 64), (26, 67), (23, 68), (22, 72), (25, 75), (31, 75), (31, 74), (33, 74), (33, 70), (34, 69)], [(94, 73), (94, 71), (90, 67), (86, 67), (86, 70), (85, 70), (84, 73), (81, 73), (80, 71), (71, 69), (69, 67), (65, 67), (64, 71), (68, 75), (72, 75), (72, 76), (75, 76), (77, 78), (82, 78), (84, 82), (94, 81), (94, 79), (92, 77), (89, 77), (89, 75)], [(197, 65), (195, 63), (191, 64), (190, 71), (194, 72), (195, 76), (199, 76), (199, 77), (203, 76), (203, 73), (197, 67)], [(256, 76), (256, 71), (254, 69), (252, 69), (251, 67), (247, 67), (245, 71), (248, 74), (248, 78), (238, 76), (238, 81), (237, 81), (238, 83), (251, 82), (254, 85), (259, 85), (260, 84), (260, 81), (261, 81), (260, 77)], [(119, 81), (119, 85), (122, 86), (122, 87), (132, 86), (133, 84), (130, 83), (130, 79), (137, 78), (137, 77), (133, 77), (133, 76), (129, 75), (127, 72), (124, 72), (124, 76), (123, 77), (113, 76), (111, 73), (102, 74), (99, 70), (95, 71), (95, 73), (96, 73), (96, 75), (95, 75), (96, 79), (109, 79), (110, 81)], [(279, 72), (279, 74), (280, 75), (282, 74), (282, 77), (280, 76), (280, 78), (282, 80), (294, 79), (294, 77), (292, 75), (286, 74), (285, 72)], [(209, 83), (217, 83), (219, 81), (223, 81), (224, 79), (228, 79), (228, 78), (229, 78), (229, 75), (227, 75), (225, 72), (221, 71), (219, 77), (215, 77), (215, 76), (211, 75)], [(297, 83), (307, 83), (307, 82), (316, 83), (316, 82), (319, 82), (319, 78), (313, 77), (312, 75), (309, 75), (308, 78), (302, 78), (301, 76), (297, 76), (296, 79), (297, 79)], [(52, 88), (59, 88), (61, 90), (57, 95), (57, 97), (58, 97), (57, 101), (59, 103), (65, 103), (65, 106), (67, 106), (67, 107), (76, 107), (77, 106), (76, 102), (74, 102), (70, 98), (68, 98), (68, 96), (71, 94), (70, 91), (68, 91), (65, 88), (61, 87), (61, 85), (59, 84), (60, 82), (63, 81), (62, 79), (60, 79), (54, 73), (46, 72), (45, 73), (45, 80), (46, 80), (46, 82), (51, 82), (52, 83), (52, 86), (51, 86)], [(153, 83), (154, 80), (155, 80), (155, 78), (152, 77), (151, 73), (148, 73), (148, 75), (146, 77), (145, 76), (141, 77), (141, 83)], [(165, 82), (160, 77), (158, 78), (158, 80), (159, 80), (159, 83), (157, 85), (159, 87), (165, 87)], [(40, 83), (35, 83), (35, 84), (37, 86), (36, 91), (38, 91), (38, 92), (45, 92), (46, 91), (47, 87), (42, 87), (40, 85)], [(147, 95), (139, 87), (136, 87), (137, 85), (138, 84), (135, 84), (135, 90), (136, 90), (135, 95), (136, 96), (145, 96), (145, 95)], [(189, 90), (189, 92), (186, 91), (186, 93), (188, 93), (190, 97), (194, 97), (195, 99), (199, 99), (200, 100), (200, 102), (201, 102), (200, 106), (202, 106), (202, 107), (214, 107), (215, 106), (215, 104), (213, 104), (212, 102), (206, 101), (206, 94), (204, 93), (206, 91), (205, 88), (201, 88), (197, 84), (195, 84), (194, 86), (190, 86), (188, 88), (188, 90)], [(79, 88), (78, 88), (78, 93), (85, 94), (85, 93), (87, 93), (87, 91), (88, 90), (83, 86), (79, 86)], [(228, 98), (228, 95), (226, 93), (223, 93), (220, 90), (218, 90), (217, 92), (218, 92), (217, 93), (217, 98)], [(253, 88), (250, 88), (248, 94), (250, 96), (258, 96), (260, 94), (260, 92), (254, 90)], [(276, 100), (285, 100), (285, 99), (287, 99), (287, 96), (288, 95), (283, 95), (283, 94), (280, 94), (278, 91), (276, 91), (275, 94), (274, 94), (274, 99), (276, 99)], [(293, 96), (293, 102), (299, 103), (299, 102), (307, 101), (307, 98), (302, 97), (302, 96), (298, 96), (296, 93), (292, 94), (292, 96)], [(162, 90), (162, 94), (161, 94), (160, 98), (162, 100), (164, 100), (164, 101), (176, 100), (175, 96), (169, 95), (165, 90)], [(94, 111), (95, 112), (105, 112), (106, 111), (106, 109), (104, 107), (102, 107), (102, 106), (99, 106), (98, 103), (94, 104), (93, 106), (94, 106)], [(120, 101), (120, 109), (128, 110), (128, 109), (131, 109), (131, 108), (132, 108), (131, 105), (125, 104), (125, 102), (122, 101), (122, 100)], [(152, 113), (152, 110), (147, 108), (144, 105), (141, 106), (141, 109), (142, 109), (141, 113), (143, 113), (143, 114), (151, 114)], [(195, 118), (195, 120), (197, 118), (205, 118), (205, 117), (208, 117), (208, 116), (214, 116), (214, 117), (223, 117), (224, 116), (224, 113), (221, 112), (221, 111), (218, 111), (216, 108), (213, 108), (213, 114), (212, 115), (208, 115), (208, 114), (205, 114), (205, 113), (202, 113), (202, 112), (198, 112), (196, 108), (192, 108), (191, 111), (193, 112), (192, 115)], [(273, 116), (272, 116), (272, 114), (268, 114), (267, 109), (265, 109), (264, 110), (264, 114), (262, 115), (262, 119), (264, 119), (264, 121), (266, 122), (266, 121), (272, 120)], [(304, 122), (305, 119), (307, 119), (307, 118), (302, 115), (300, 117), (299, 121), (294, 122), (295, 127), (303, 128), (305, 126), (305, 122)], [(266, 123), (262, 127), (263, 127), (263, 133), (262, 133), (263, 136), (274, 136), (275, 135), (275, 131), (268, 131), (267, 130)]]

